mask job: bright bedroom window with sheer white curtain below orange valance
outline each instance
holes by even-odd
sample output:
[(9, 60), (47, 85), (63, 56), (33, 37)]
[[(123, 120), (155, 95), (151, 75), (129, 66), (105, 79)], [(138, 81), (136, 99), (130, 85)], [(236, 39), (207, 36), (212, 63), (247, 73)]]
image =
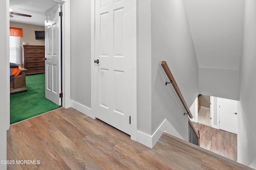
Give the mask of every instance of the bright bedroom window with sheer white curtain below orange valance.
[(21, 64), (20, 37), (10, 36), (10, 63)]

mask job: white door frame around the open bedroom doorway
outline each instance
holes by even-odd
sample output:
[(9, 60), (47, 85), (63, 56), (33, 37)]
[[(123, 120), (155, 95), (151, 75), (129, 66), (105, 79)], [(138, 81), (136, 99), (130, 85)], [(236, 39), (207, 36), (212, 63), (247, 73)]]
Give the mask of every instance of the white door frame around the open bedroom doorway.
[[(6, 0), (6, 14), (9, 12), (9, 1)], [(70, 0), (52, 0), (55, 2), (58, 2), (62, 5), (62, 12), (63, 12), (63, 17), (62, 17), (62, 93), (63, 93), (63, 98), (62, 98), (62, 107), (68, 108), (70, 107)], [(9, 45), (9, 27), (10, 27), (10, 18), (9, 15), (6, 15), (6, 42), (7, 42), (7, 61), (6, 64), (9, 65), (10, 61), (10, 45)], [(8, 66), (9, 68), (9, 66)], [(8, 70), (6, 70), (6, 75), (9, 77), (10, 73)], [(6, 92), (9, 94), (10, 93), (10, 82), (7, 81), (7, 88)], [(10, 96), (10, 95), (9, 95)], [(9, 101), (8, 105), (8, 111), (6, 111), (7, 114), (7, 129), (10, 128), (10, 97), (7, 98)]]

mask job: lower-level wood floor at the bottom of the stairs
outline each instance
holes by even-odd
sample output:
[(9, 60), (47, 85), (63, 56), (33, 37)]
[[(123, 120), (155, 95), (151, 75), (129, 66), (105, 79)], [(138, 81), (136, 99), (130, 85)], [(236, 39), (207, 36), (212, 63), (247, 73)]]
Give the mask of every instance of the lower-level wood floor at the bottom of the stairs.
[(200, 147), (237, 161), (237, 135), (192, 122), (200, 130)]

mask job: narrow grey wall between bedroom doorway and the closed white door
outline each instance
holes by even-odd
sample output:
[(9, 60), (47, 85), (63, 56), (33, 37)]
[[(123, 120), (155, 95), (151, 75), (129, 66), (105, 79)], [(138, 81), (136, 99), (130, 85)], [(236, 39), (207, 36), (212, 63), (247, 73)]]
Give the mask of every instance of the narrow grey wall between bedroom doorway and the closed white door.
[(90, 115), (91, 1), (71, 1), (71, 106)]

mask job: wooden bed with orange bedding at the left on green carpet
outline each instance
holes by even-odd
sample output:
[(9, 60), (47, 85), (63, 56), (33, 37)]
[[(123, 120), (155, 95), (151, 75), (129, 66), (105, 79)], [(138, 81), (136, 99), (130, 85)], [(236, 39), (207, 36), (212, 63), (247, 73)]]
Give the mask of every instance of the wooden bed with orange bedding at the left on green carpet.
[[(12, 69), (15, 68), (17, 70), (17, 75), (11, 75)], [(18, 71), (20, 70), (20, 71)], [(13, 63), (10, 63), (10, 93), (22, 92), (27, 90), (26, 88), (26, 71), (28, 69), (13, 66)]]

